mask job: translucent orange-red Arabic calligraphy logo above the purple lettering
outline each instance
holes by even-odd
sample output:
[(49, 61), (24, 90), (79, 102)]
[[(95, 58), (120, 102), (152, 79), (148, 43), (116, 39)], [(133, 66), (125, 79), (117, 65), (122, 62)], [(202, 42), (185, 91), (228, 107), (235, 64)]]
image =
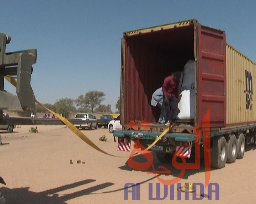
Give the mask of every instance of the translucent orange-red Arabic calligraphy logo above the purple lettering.
[[(146, 121), (142, 121), (141, 124), (143, 124), (143, 128), (146, 130), (149, 129), (150, 123), (147, 123)], [(185, 155), (184, 153), (179, 149), (175, 152), (174, 156), (172, 157), (172, 165), (176, 169), (180, 169), (180, 174), (172, 180), (164, 180), (161, 179), (156, 174), (163, 174), (163, 173), (171, 173), (170, 170), (166, 169), (164, 166), (158, 166), (158, 169), (164, 169), (164, 171), (155, 171), (155, 167), (153, 164), (153, 154), (149, 151), (145, 151), (145, 147), (140, 143), (139, 139), (137, 139), (134, 142), (133, 150), (129, 155), (128, 159), (128, 165), (130, 168), (136, 169), (136, 170), (147, 170), (147, 174), (155, 174), (156, 178), (165, 185), (173, 185), (180, 181), (182, 177), (185, 174), (185, 170), (187, 169), (199, 169), (200, 168), (200, 137), (203, 134), (203, 151), (204, 151), (204, 168), (205, 168), (205, 184), (206, 187), (209, 184), (210, 181), (210, 109), (208, 109), (207, 113), (204, 115), (202, 120), (203, 128), (201, 131), (199, 129), (199, 124), (194, 127), (194, 134), (195, 134), (195, 163), (186, 163)], [(135, 123), (134, 121), (131, 121), (129, 123), (129, 126), (136, 130), (139, 126), (139, 124)], [(143, 155), (143, 157), (146, 158), (147, 162), (135, 162), (133, 160), (133, 156), (135, 152), (139, 152)], [(182, 163), (178, 163), (176, 161), (176, 158), (179, 157), (182, 160)], [(148, 169), (152, 166), (153, 171), (148, 171)]]

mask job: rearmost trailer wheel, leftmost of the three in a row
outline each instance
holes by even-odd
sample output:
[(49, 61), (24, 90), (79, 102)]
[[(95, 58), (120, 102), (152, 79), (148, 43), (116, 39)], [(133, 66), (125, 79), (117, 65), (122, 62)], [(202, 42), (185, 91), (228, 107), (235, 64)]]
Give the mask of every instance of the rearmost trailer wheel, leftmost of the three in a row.
[(225, 137), (218, 136), (213, 139), (213, 149), (211, 151), (211, 166), (216, 169), (221, 169), (226, 165), (228, 158), (228, 144)]

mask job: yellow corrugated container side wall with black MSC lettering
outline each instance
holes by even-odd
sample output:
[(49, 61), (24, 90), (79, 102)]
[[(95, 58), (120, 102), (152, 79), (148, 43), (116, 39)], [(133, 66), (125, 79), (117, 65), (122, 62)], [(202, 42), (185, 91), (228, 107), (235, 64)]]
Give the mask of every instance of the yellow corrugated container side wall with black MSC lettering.
[(255, 123), (256, 64), (226, 44), (226, 69), (226, 125)]

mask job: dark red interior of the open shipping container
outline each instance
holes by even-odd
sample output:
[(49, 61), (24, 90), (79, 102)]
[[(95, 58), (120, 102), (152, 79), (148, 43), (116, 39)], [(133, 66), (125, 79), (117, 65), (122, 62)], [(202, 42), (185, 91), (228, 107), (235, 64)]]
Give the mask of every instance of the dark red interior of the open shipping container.
[(151, 106), (151, 96), (166, 77), (194, 60), (194, 25), (126, 36), (125, 41), (121, 113), (126, 116), (121, 124), (129, 120), (156, 123), (161, 109)]

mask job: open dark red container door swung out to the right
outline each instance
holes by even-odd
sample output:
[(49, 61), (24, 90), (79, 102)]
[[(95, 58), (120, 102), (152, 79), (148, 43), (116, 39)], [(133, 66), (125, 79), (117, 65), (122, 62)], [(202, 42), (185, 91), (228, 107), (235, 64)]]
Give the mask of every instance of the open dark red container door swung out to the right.
[(210, 109), (210, 127), (226, 126), (225, 32), (197, 25), (197, 115), (195, 123)]

